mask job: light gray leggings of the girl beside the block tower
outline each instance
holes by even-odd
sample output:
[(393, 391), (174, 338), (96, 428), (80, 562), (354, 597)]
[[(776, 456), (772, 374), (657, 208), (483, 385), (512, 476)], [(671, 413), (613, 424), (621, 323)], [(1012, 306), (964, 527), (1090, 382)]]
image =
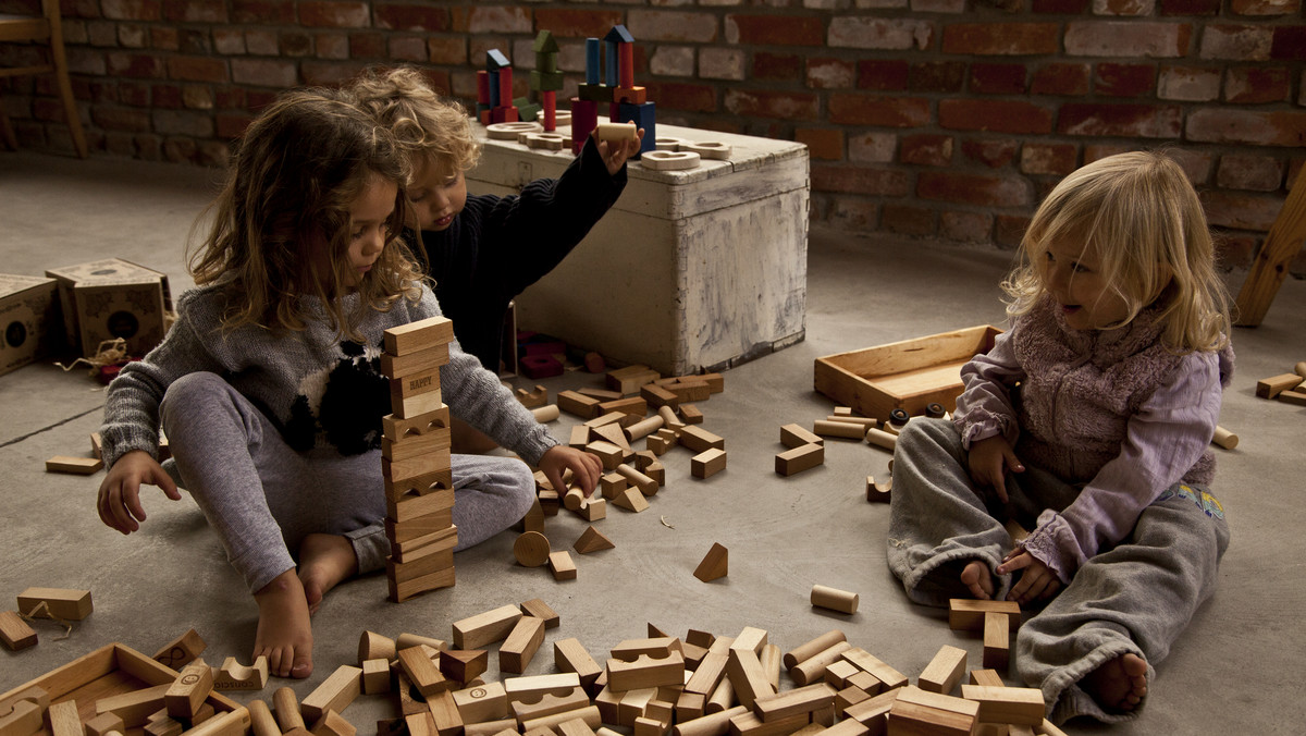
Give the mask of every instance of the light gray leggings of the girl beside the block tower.
[[(168, 386), (161, 413), (180, 484), (251, 592), (294, 569), (310, 533), (349, 539), (360, 574), (385, 566), (380, 450), (296, 452), (257, 407), (212, 373)], [(454, 455), (452, 468), (456, 549), (502, 532), (532, 506), (535, 481), (521, 460)]]

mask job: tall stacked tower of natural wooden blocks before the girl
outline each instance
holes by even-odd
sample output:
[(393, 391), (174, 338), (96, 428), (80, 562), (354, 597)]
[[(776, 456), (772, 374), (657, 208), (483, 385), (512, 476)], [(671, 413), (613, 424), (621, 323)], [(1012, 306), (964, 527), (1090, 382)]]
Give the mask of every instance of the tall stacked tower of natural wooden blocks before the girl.
[(390, 379), (392, 414), (381, 420), (385, 480), (385, 561), (390, 600), (453, 584), (453, 471), (449, 408), (440, 366), (449, 362), (453, 323), (443, 316), (385, 331), (381, 371)]

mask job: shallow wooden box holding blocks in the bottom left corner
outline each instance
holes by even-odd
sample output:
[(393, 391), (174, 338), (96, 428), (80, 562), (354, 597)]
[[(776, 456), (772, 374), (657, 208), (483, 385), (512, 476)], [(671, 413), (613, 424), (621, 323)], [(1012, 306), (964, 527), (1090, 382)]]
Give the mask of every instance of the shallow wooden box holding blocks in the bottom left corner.
[[(24, 682), (8, 693), (0, 694), (0, 701), (18, 694), (27, 688), (42, 688), (50, 693), (51, 705), (63, 701), (77, 701), (77, 712), (82, 723), (95, 718), (95, 701), (163, 685), (176, 680), (178, 672), (171, 667), (159, 664), (144, 654), (124, 646), (106, 644), (88, 655), (80, 656), (68, 664), (52, 669), (35, 680)], [(212, 693), (209, 705), (218, 712), (235, 710), (238, 703), (226, 695)], [(48, 719), (47, 719), (48, 724)], [(124, 736), (138, 736), (142, 728), (128, 728)], [(48, 726), (37, 731), (37, 736), (50, 736)]]

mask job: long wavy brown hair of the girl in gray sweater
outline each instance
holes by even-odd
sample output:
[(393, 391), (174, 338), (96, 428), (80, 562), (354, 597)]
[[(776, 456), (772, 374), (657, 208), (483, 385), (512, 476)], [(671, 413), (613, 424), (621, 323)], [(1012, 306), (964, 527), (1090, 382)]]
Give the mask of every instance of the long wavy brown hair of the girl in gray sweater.
[[(350, 207), (375, 183), (398, 193), (389, 233), (375, 267), (357, 286), (347, 263)], [(249, 124), (226, 184), (209, 214), (212, 225), (189, 256), (199, 285), (221, 282), (234, 295), (222, 324), (302, 331), (304, 297), (316, 297), (333, 329), (360, 340), (367, 309), (388, 311), (401, 297), (421, 298), (423, 275), (398, 238), (406, 221), (407, 159), (394, 137), (337, 92), (296, 90), (277, 98)], [(342, 297), (357, 290), (359, 309), (346, 314)]]

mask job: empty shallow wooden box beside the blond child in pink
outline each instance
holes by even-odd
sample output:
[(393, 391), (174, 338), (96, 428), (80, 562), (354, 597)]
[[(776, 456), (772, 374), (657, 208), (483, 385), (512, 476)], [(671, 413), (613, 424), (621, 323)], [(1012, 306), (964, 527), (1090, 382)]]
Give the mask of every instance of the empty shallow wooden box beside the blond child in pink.
[(887, 420), (893, 409), (923, 414), (932, 403), (951, 412), (961, 395), (961, 366), (987, 353), (1000, 333), (981, 324), (824, 356), (816, 358), (816, 391), (878, 420)]

